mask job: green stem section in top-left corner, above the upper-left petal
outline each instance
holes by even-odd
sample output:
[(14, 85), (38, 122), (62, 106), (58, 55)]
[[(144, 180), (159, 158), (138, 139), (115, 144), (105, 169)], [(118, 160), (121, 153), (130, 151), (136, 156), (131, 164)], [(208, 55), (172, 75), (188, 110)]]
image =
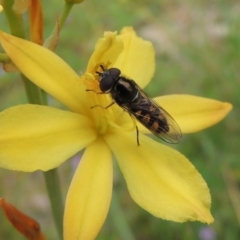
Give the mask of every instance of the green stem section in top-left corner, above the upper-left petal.
[(12, 10), (12, 5), (14, 0), (3, 0), (2, 6), (4, 9), (4, 13), (8, 20), (8, 24), (10, 27), (10, 31), (12, 35), (20, 38), (25, 38), (24, 24), (22, 15), (15, 13)]

